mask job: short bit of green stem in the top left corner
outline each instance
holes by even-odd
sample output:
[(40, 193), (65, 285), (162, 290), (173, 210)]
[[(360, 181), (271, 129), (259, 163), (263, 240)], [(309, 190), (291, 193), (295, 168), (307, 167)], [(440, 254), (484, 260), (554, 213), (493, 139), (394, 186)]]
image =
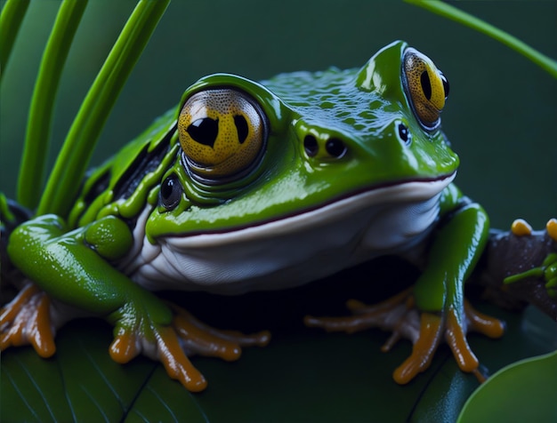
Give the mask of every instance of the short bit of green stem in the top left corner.
[(0, 14), (0, 78), (10, 59), (28, 5), (29, 0), (8, 0)]

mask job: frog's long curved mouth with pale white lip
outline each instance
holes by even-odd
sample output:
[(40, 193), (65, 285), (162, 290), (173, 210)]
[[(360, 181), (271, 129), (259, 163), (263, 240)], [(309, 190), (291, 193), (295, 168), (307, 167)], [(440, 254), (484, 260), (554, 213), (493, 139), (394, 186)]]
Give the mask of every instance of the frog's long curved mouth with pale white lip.
[(225, 244), (253, 242), (257, 239), (303, 233), (309, 227), (332, 225), (339, 219), (373, 207), (394, 204), (420, 204), (440, 195), (455, 179), (456, 172), (438, 178), (405, 180), (349, 192), (332, 198), (324, 204), (301, 209), (294, 213), (256, 221), (240, 227), (227, 227), (214, 231), (188, 233), (186, 235), (163, 235), (166, 243), (178, 249), (222, 247)]

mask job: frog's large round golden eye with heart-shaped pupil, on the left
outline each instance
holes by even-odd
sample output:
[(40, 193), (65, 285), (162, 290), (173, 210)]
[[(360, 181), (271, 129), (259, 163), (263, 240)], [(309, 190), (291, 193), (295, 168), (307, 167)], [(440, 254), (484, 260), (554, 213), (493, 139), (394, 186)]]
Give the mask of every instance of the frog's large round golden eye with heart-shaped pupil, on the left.
[(230, 88), (193, 94), (178, 118), (185, 162), (208, 183), (236, 180), (260, 162), (267, 137), (261, 107)]

